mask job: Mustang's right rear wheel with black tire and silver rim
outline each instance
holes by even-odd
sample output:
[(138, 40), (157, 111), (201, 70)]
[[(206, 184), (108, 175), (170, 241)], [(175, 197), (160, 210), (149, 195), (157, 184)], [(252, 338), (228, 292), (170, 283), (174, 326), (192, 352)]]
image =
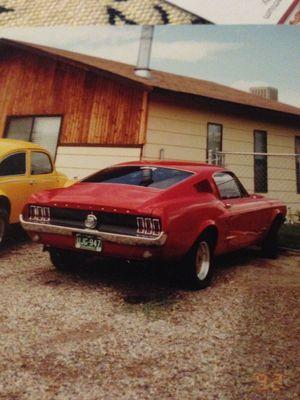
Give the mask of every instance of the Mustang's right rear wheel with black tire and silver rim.
[(215, 269), (214, 247), (211, 235), (204, 233), (185, 257), (183, 273), (190, 289), (205, 289), (211, 284)]

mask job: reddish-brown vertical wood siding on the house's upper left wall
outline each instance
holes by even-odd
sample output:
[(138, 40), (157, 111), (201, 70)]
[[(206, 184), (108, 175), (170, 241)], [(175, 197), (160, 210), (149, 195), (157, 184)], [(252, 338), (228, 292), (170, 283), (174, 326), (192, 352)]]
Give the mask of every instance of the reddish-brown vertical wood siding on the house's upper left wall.
[(22, 50), (0, 56), (0, 136), (8, 116), (62, 115), (60, 144), (144, 143), (143, 89)]

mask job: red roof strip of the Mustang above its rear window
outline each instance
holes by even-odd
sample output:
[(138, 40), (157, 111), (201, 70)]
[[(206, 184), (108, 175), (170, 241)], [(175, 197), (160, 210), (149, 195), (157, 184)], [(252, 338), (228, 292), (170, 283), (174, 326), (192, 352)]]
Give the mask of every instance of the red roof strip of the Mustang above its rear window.
[(218, 167), (208, 163), (197, 163), (192, 161), (174, 161), (174, 160), (145, 160), (145, 161), (131, 161), (126, 163), (118, 164), (118, 166), (155, 166), (163, 168), (178, 168), (193, 173), (214, 173), (224, 171), (224, 168)]

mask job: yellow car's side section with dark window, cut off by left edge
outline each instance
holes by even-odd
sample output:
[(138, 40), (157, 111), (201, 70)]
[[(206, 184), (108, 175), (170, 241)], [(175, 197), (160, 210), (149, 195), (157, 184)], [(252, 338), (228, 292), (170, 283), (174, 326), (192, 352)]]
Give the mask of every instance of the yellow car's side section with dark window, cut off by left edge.
[(19, 222), (19, 215), (30, 195), (28, 158), (29, 152), (20, 150), (7, 154), (0, 162), (0, 192), (9, 200), (11, 224)]

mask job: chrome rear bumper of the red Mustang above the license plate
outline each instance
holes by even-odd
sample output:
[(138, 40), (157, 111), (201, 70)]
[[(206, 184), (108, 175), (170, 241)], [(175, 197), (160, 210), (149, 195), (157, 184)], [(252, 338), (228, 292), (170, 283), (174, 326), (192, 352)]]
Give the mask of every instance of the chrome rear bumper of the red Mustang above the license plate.
[(129, 246), (163, 246), (167, 240), (167, 234), (162, 232), (156, 238), (147, 238), (147, 237), (139, 237), (139, 236), (130, 236), (130, 235), (120, 235), (115, 233), (107, 233), (100, 232), (94, 229), (79, 229), (79, 228), (70, 228), (66, 226), (57, 226), (51, 224), (40, 224), (37, 222), (25, 221), (23, 216), (20, 215), (20, 222), (26, 231), (35, 232), (35, 233), (50, 233), (57, 234), (63, 236), (72, 236), (74, 233), (82, 233), (85, 235), (94, 235), (103, 241), (118, 243), (118, 244), (126, 244)]

